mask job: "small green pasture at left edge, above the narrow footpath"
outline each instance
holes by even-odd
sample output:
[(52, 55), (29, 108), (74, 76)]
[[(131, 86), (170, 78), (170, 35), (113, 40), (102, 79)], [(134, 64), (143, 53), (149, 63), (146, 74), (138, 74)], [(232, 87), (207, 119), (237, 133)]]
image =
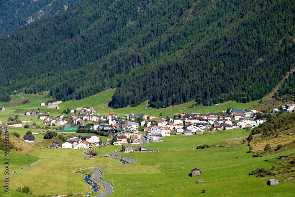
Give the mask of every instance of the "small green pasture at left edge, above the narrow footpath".
[[(0, 172), (3, 172), (3, 176), (0, 178), (4, 177), (4, 170), (5, 170), (5, 165), (4, 162), (9, 161), (9, 175), (13, 174), (13, 172), (18, 172), (19, 170), (26, 167), (29, 167), (30, 164), (35, 163), (38, 161), (38, 157), (30, 156), (30, 155), (22, 155), (22, 154), (16, 154), (16, 153), (9, 153), (8, 157), (4, 156), (4, 151), (0, 151), (0, 159), (1, 159), (1, 165), (0, 165)], [(9, 158), (9, 160), (4, 160)], [(13, 175), (15, 176), (15, 175)]]

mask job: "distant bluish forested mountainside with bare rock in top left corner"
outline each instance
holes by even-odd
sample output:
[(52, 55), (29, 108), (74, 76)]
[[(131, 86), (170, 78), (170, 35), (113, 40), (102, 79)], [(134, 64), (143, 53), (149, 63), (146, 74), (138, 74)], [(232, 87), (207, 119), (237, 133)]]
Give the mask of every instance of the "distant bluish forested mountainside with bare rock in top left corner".
[(70, 9), (83, 0), (3, 0), (0, 1), (0, 36), (22, 25)]

